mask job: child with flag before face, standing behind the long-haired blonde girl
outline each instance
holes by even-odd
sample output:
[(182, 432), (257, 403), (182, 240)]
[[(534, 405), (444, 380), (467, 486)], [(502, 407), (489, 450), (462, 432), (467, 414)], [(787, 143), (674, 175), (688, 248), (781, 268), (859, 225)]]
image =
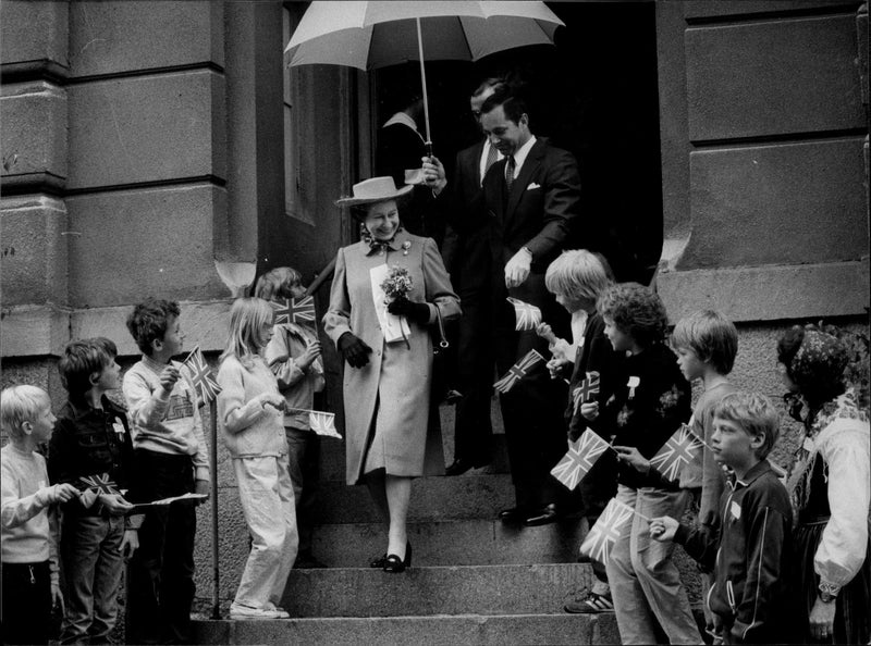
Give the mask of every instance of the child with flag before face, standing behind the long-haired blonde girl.
[(293, 299), (291, 302), (294, 305), (308, 303), (305, 308), (286, 308), (287, 320), (275, 321), (265, 359), (284, 396), (284, 434), (299, 531), (299, 550), (294, 567), (324, 568), (311, 554), (320, 481), (320, 437), (311, 430), (308, 411), (315, 406), (315, 394), (323, 390), (326, 382), (320, 341), (314, 327), (315, 301), (311, 297), (303, 298), (305, 291), (299, 272), (279, 266), (258, 278), (254, 295), (271, 301)]

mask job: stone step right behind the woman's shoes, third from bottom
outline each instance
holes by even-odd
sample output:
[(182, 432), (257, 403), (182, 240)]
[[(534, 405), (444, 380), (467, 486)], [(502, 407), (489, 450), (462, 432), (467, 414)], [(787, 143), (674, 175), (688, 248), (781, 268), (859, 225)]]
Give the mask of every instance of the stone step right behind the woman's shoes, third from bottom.
[[(495, 566), (575, 562), (586, 531), (579, 519), (540, 527), (493, 520), (424, 521), (408, 524), (413, 561), (421, 566)], [(321, 525), (312, 551), (334, 568), (359, 568), (384, 552), (380, 523)]]

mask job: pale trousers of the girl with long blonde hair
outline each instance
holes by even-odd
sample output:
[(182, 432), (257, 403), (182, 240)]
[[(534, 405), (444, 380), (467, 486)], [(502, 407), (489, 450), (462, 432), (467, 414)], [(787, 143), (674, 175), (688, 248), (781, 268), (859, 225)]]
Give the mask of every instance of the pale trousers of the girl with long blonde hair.
[(250, 608), (267, 601), (279, 605), (299, 545), (287, 458), (234, 458), (233, 469), (252, 535), (234, 602)]

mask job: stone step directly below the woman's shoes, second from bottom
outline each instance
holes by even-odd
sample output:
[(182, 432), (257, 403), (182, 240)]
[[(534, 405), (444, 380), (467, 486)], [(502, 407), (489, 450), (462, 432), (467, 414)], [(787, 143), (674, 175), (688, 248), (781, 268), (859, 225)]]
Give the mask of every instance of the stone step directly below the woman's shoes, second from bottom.
[(580, 563), (294, 570), (281, 605), (296, 618), (559, 613), (591, 580)]

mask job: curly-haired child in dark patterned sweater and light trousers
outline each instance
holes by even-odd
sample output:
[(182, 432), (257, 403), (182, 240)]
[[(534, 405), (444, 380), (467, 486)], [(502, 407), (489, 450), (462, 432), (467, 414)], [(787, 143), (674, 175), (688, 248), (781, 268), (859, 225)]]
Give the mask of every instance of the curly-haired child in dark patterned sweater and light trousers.
[(664, 488), (661, 479), (653, 481), (622, 459), (624, 447), (653, 457), (689, 418), (689, 383), (664, 343), (667, 318), (659, 296), (636, 283), (613, 285), (597, 308), (614, 351), (627, 355), (614, 397), (601, 410), (596, 403), (581, 411), (591, 422), (600, 415), (614, 420), (616, 500), (634, 510), (629, 531), (616, 539), (606, 564), (621, 639), (654, 644), (659, 622), (672, 644), (700, 644), (686, 591), (672, 562), (673, 545), (651, 542), (647, 520), (679, 518), (689, 494), (676, 484)]

